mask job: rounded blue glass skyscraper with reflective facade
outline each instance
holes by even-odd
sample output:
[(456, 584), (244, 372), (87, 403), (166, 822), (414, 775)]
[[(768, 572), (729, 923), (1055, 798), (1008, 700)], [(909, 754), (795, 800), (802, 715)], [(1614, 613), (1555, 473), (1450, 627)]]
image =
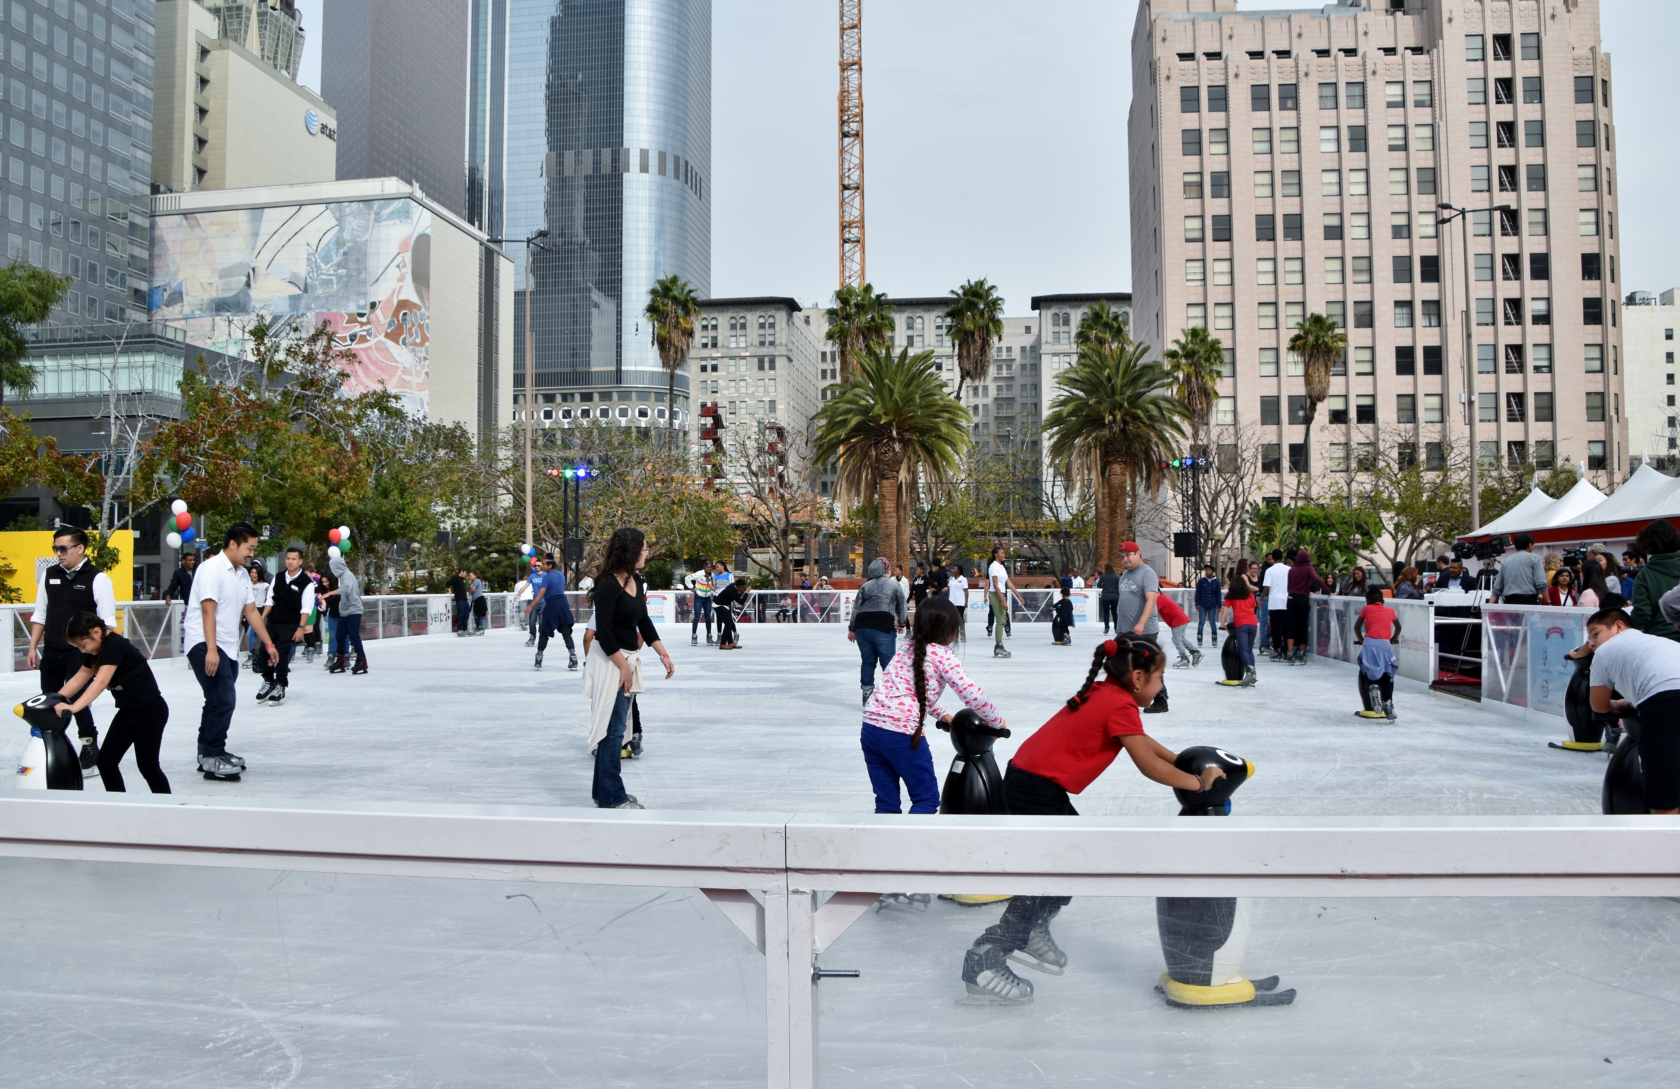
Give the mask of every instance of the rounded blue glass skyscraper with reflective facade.
[[(647, 292), (677, 274), (711, 294), (711, 3), (474, 0), (472, 35), (467, 206), (492, 237), (548, 230), (531, 255), (536, 401), (662, 419)], [(509, 252), (522, 403), (526, 253)], [(679, 408), (687, 388), (679, 374)]]

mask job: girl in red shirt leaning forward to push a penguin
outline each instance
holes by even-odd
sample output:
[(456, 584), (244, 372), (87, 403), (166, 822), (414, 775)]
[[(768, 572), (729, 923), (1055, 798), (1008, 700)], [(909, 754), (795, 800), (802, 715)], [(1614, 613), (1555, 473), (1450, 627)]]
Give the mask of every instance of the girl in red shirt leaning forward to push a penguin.
[[(1210, 767), (1201, 777), (1173, 767), (1178, 758), (1144, 733), (1141, 706), (1161, 691), (1166, 654), (1141, 638), (1117, 636), (1097, 646), (1085, 685), (1038, 727), (1010, 760), (1003, 775), (1003, 805), (1010, 814), (1077, 817), (1070, 794), (1080, 794), (1126, 750), (1146, 779), (1201, 792), (1225, 772)], [(1102, 680), (1097, 680), (1097, 675)], [(964, 1005), (1025, 1005), (1033, 985), (1008, 967), (1062, 975), (1067, 955), (1050, 936), (1050, 920), (1072, 903), (1070, 896), (1015, 896), (996, 926), (974, 940), (963, 958)]]

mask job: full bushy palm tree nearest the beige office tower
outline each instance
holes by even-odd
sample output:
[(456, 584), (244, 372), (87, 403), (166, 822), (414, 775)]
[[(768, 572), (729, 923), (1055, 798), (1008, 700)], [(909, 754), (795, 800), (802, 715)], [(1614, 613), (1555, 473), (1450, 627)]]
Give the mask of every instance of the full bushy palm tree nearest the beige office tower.
[(1149, 346), (1126, 341), (1082, 349), (1062, 371), (1062, 391), (1045, 413), (1048, 455), (1075, 488), (1095, 488), (1097, 562), (1119, 562), (1131, 539), (1127, 490), (1166, 482), (1163, 458), (1184, 438), (1189, 409), (1171, 391), (1173, 374), (1149, 361)]

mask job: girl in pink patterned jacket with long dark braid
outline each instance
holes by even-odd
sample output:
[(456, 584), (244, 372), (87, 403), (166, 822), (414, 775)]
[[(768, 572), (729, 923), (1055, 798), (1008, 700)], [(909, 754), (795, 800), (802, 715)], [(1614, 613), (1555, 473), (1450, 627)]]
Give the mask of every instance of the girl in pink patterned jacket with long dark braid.
[(946, 686), (988, 723), (1003, 727), (1003, 715), (951, 653), (961, 628), (963, 614), (949, 601), (924, 601), (909, 644), (894, 654), (864, 705), (864, 763), (875, 789), (875, 812), (902, 812), (899, 780), (911, 792), (911, 812), (939, 812), (939, 780), (922, 730), (929, 708), (939, 722), (951, 722), (937, 708)]

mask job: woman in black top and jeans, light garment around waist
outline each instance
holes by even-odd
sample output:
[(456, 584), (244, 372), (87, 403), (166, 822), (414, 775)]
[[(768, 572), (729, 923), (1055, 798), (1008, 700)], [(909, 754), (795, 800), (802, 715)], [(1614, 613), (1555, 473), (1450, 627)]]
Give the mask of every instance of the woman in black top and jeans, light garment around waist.
[(635, 681), (642, 651), (637, 649), (637, 634), (640, 633), (665, 663), (665, 680), (677, 671), (659, 638), (659, 629), (647, 617), (647, 584), (637, 574), (647, 564), (647, 552), (642, 530), (630, 527), (613, 530), (601, 571), (595, 577), (595, 643), (618, 666), (618, 683), (603, 685), (595, 696), (600, 701), (613, 701), (606, 737), (595, 747), (595, 782), (590, 797), (600, 809), (642, 809), (633, 795), (625, 794), (625, 780), (618, 774), (632, 690), (638, 688)]

